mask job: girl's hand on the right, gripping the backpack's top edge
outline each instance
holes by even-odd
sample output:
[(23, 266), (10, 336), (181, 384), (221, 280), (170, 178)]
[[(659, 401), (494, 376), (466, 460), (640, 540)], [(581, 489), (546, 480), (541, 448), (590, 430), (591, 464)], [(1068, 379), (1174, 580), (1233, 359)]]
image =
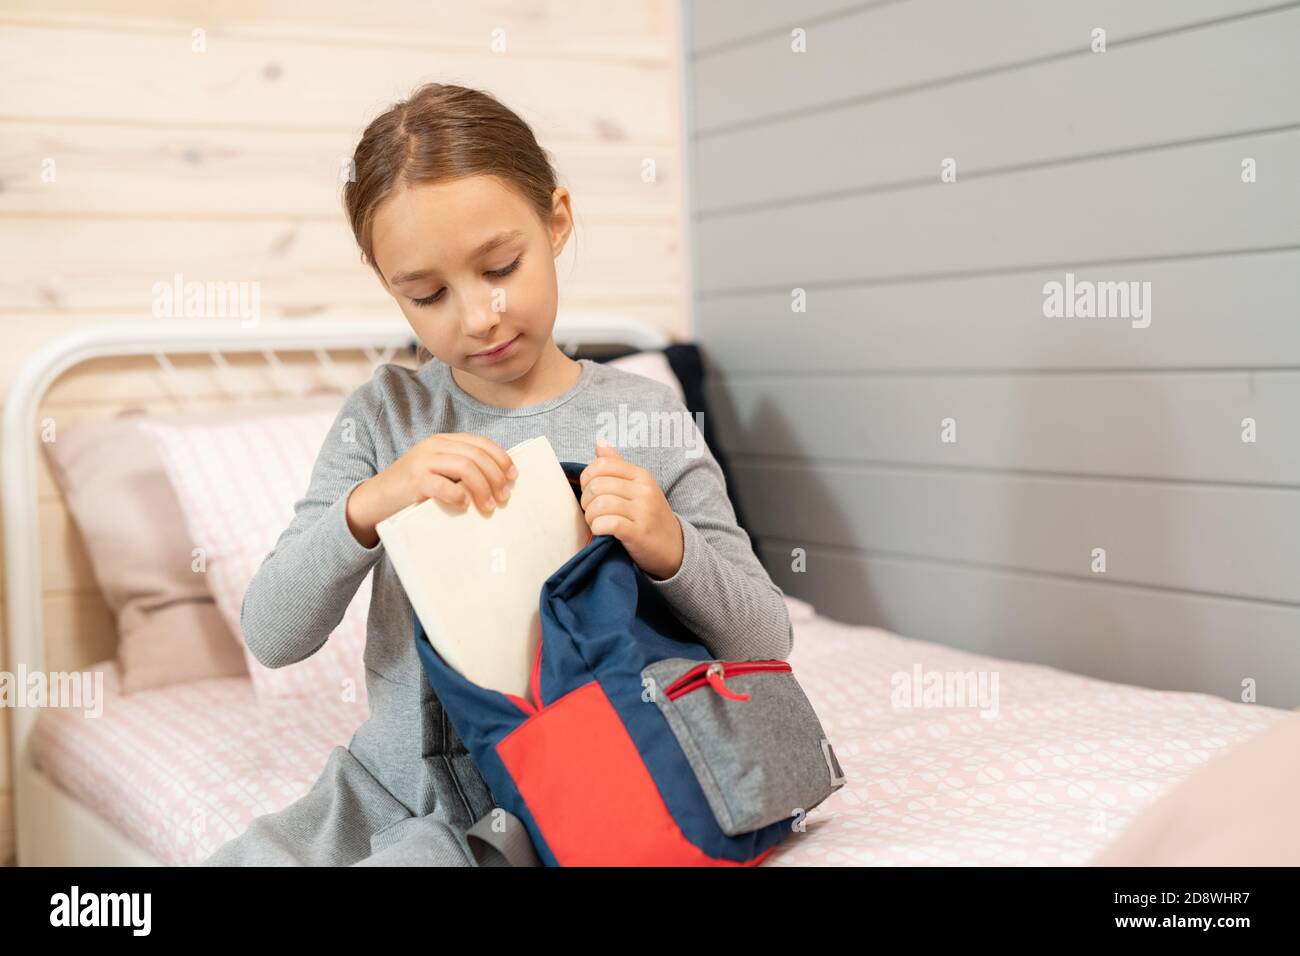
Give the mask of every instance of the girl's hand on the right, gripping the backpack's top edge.
[(595, 460), (582, 470), (580, 484), (578, 503), (593, 535), (614, 535), (637, 567), (655, 580), (677, 574), (685, 550), (681, 523), (654, 475), (601, 438)]

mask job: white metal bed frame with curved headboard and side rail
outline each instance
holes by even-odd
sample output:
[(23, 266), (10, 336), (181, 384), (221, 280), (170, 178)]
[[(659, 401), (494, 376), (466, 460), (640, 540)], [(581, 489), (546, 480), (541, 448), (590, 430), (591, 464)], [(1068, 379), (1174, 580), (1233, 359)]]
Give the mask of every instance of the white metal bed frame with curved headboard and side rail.
[[(619, 315), (560, 315), (556, 343), (572, 354), (584, 345), (663, 349), (654, 326)], [(172, 372), (169, 354), (208, 354), (226, 371), (224, 355), (260, 354), (278, 368), (277, 351), (308, 351), (333, 377), (330, 350), (364, 351), (376, 365), (416, 342), (400, 316), (355, 320), (277, 320), (246, 326), (237, 320), (126, 323), (81, 329), (36, 350), (18, 371), (4, 408), (0, 479), (4, 503), (6, 667), (44, 671), (36, 414), (49, 386), (81, 362), (105, 356), (153, 356)], [(376, 351), (377, 349), (382, 351)], [(334, 380), (338, 381), (337, 378)], [(344, 388), (339, 384), (341, 388)], [(10, 718), (17, 862), (20, 866), (159, 866), (161, 862), (117, 827), (58, 787), (32, 760), (36, 710), (14, 708)]]

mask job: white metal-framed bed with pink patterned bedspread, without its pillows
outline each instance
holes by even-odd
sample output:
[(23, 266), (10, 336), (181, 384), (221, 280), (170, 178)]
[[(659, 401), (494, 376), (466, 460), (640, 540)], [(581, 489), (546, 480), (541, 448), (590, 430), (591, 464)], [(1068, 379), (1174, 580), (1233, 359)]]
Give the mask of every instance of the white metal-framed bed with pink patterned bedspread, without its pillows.
[[(22, 436), (62, 371), (105, 354), (391, 349), (410, 334), (385, 319), (254, 332), (126, 325), (53, 343), (23, 369), (5, 419), (9, 670), (47, 659), (42, 562), (31, 559), (36, 449)], [(562, 320), (556, 341), (660, 339), (586, 319)], [(1193, 770), (1290, 713), (971, 654), (786, 602), (790, 663), (848, 782), (767, 866), (1083, 865)], [(259, 701), (238, 676), (121, 695), (112, 657), (83, 666), (103, 675), (104, 717), (27, 709), (10, 719), (20, 865), (196, 864), (303, 795), (367, 715), (364, 701)]]

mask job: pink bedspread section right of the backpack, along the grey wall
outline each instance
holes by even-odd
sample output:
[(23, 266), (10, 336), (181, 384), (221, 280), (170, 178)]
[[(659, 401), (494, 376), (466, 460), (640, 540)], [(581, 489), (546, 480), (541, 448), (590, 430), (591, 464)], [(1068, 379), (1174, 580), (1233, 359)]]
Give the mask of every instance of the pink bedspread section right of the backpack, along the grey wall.
[[(1149, 691), (849, 627), (794, 598), (790, 663), (848, 784), (772, 866), (1079, 865), (1192, 770), (1290, 711)], [(896, 708), (894, 675), (997, 675), (997, 717)], [(900, 678), (901, 679), (901, 678)]]

